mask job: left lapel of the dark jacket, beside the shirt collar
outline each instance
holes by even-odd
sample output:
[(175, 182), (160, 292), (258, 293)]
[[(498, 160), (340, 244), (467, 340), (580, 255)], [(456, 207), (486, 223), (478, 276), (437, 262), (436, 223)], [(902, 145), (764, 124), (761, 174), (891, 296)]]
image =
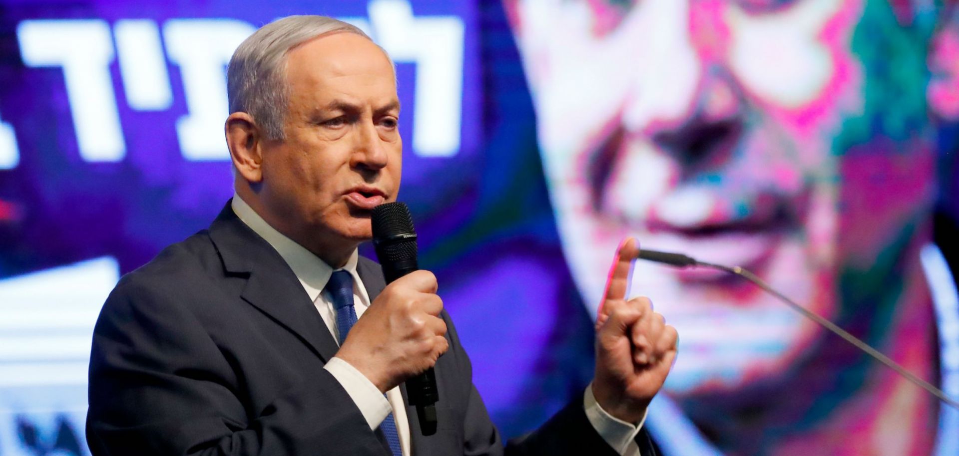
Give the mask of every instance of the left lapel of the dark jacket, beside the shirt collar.
[(296, 334), (323, 362), (337, 353), (337, 342), (290, 266), (233, 213), (230, 201), (210, 225), (209, 234), (224, 272), (246, 276), (244, 301)]

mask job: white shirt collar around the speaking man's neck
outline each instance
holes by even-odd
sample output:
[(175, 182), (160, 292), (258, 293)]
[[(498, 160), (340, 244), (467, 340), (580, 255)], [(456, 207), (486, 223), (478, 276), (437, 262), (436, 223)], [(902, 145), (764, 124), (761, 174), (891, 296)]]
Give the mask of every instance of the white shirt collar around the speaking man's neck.
[[(269, 242), (269, 245), (273, 246), (276, 253), (279, 253), (280, 257), (283, 257), (283, 261), (287, 262), (293, 274), (296, 275), (296, 279), (299, 280), (307, 294), (310, 295), (310, 301), (316, 302), (316, 297), (323, 291), (326, 283), (330, 281), (330, 276), (334, 271), (333, 267), (320, 260), (319, 257), (307, 250), (306, 247), (296, 243), (293, 239), (287, 238), (279, 231), (276, 231), (275, 228), (269, 226), (267, 220), (264, 220), (253, 208), (249, 207), (239, 194), (233, 194), (231, 207), (237, 217), (240, 217), (240, 219), (246, 223), (246, 226)], [(346, 264), (340, 269), (349, 272), (350, 275), (353, 276), (354, 292), (360, 293), (364, 302), (368, 303), (369, 298), (366, 297), (366, 289), (362, 286), (363, 282), (360, 280), (359, 274), (357, 274), (359, 257), (360, 254), (358, 251), (353, 250), (353, 254), (350, 255), (349, 260), (347, 260)]]

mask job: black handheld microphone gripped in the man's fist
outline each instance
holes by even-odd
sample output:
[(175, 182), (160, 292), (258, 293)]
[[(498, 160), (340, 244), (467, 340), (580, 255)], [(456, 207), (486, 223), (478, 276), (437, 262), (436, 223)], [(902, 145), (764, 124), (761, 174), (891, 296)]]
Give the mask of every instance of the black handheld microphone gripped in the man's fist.
[[(416, 263), (416, 232), (406, 204), (399, 201), (373, 208), (373, 245), (383, 266), (386, 284), (419, 269)], [(416, 407), (423, 435), (436, 433), (436, 376), (433, 368), (407, 380), (409, 404)]]

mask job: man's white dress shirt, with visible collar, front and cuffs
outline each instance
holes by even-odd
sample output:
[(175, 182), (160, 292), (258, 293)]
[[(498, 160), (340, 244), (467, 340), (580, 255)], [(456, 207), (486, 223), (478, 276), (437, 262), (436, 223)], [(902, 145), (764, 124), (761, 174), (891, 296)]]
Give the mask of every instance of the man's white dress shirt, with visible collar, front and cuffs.
[[(333, 334), (333, 339), (339, 341), (337, 314), (333, 306), (333, 299), (328, 292), (323, 290), (333, 274), (333, 267), (320, 260), (302, 245), (269, 226), (269, 223), (253, 211), (238, 194), (233, 194), (232, 208), (237, 217), (240, 217), (246, 223), (246, 226), (249, 226), (257, 235), (269, 242), (280, 254), (280, 257), (287, 262), (293, 274), (296, 275), (296, 279), (299, 280), (300, 285), (303, 285), (303, 289), (306, 290), (310, 300), (313, 301), (316, 311), (323, 318), (327, 329)], [(363, 280), (357, 274), (358, 259), (359, 253), (354, 250), (349, 260), (340, 269), (353, 276), (353, 305), (356, 309), (357, 318), (361, 318), (363, 317), (363, 311), (369, 307), (370, 301), (369, 296), (366, 295)], [(396, 431), (400, 437), (403, 455), (410, 456), (409, 420), (399, 387), (387, 391), (386, 398), (384, 398), (380, 389), (372, 381), (363, 376), (348, 362), (336, 356), (327, 361), (324, 369), (337, 378), (346, 393), (356, 402), (370, 429), (379, 427), (386, 416), (393, 412), (393, 420), (396, 422)], [(623, 422), (613, 417), (596, 402), (596, 398), (593, 397), (592, 385), (586, 388), (583, 406), (586, 410), (586, 418), (596, 428), (596, 432), (620, 455), (636, 456), (640, 454), (639, 446), (633, 442), (633, 439), (640, 432), (645, 417), (638, 425)]]

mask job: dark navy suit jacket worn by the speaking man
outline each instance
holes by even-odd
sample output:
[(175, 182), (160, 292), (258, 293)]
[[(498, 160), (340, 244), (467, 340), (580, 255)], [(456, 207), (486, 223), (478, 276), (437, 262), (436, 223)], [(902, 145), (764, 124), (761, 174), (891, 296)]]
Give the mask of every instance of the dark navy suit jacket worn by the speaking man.
[[(370, 299), (385, 283), (361, 258)], [(407, 409), (415, 455), (610, 454), (573, 400), (503, 446), (443, 313), (438, 429)], [(94, 455), (386, 455), (336, 378), (338, 346), (292, 270), (229, 203), (208, 230), (164, 249), (107, 298), (93, 335), (86, 438)], [(406, 399), (406, 390), (401, 388)], [(643, 456), (656, 454), (645, 431)]]

